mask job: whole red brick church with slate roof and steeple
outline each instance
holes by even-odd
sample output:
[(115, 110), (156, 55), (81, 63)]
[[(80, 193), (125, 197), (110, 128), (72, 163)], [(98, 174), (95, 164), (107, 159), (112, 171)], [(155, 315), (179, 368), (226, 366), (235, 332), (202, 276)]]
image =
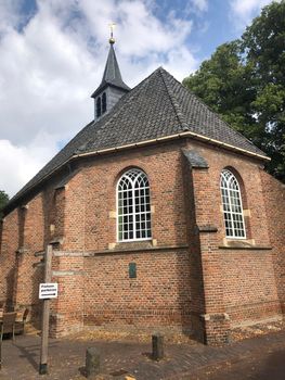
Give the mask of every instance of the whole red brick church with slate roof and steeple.
[(285, 312), (285, 189), (269, 157), (164, 68), (130, 89), (109, 40), (94, 121), (7, 205), (0, 302), (51, 332), (182, 332), (207, 344)]

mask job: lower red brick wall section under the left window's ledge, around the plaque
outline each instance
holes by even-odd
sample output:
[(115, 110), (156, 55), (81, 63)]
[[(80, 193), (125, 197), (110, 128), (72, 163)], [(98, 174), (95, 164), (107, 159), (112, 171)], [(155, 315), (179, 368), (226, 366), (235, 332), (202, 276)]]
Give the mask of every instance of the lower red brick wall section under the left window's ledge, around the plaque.
[[(137, 278), (129, 278), (129, 263)], [(191, 328), (187, 251), (106, 254), (85, 258), (85, 322)]]

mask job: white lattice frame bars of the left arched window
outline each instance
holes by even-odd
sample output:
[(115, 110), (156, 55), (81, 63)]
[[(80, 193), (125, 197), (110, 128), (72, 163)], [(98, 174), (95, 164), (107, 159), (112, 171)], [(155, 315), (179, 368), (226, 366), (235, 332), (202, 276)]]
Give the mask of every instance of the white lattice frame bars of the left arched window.
[[(127, 190), (121, 190), (119, 187), (120, 187), (120, 183), (121, 183), (121, 180), (124, 178), (127, 178), (130, 182), (131, 182), (131, 189), (129, 189), (128, 191), (131, 191), (131, 205), (128, 203), (128, 198), (127, 199), (124, 199), (122, 198), (122, 202), (124, 201), (127, 201), (128, 205), (127, 207), (131, 207), (132, 208), (132, 212), (131, 213), (124, 213), (120, 214), (120, 210), (124, 210), (124, 204), (119, 204), (119, 201), (120, 201), (120, 197), (119, 197), (119, 193), (124, 193), (125, 191)], [(143, 187), (139, 187), (139, 188), (135, 188), (135, 183), (138, 182), (139, 179), (143, 179), (143, 180), (146, 180), (147, 182), (147, 186), (143, 186)], [(147, 189), (147, 191), (146, 191)], [(135, 203), (135, 199), (139, 199), (138, 197), (135, 197), (135, 191), (140, 191), (140, 190), (144, 190), (144, 200), (145, 202), (144, 203), (141, 203), (141, 202), (137, 202)], [(148, 195), (146, 195), (146, 193), (148, 193)], [(146, 197), (150, 198), (150, 203), (146, 202)], [(137, 168), (137, 167), (132, 167), (130, 169), (128, 169), (127, 172), (125, 172), (121, 177), (119, 178), (118, 182), (117, 182), (117, 188), (116, 188), (116, 203), (117, 203), (117, 242), (128, 242), (128, 241), (141, 241), (141, 240), (152, 240), (152, 213), (151, 213), (151, 189), (150, 189), (150, 182), (148, 182), (148, 178), (146, 176), (146, 174)], [(139, 212), (137, 212), (137, 208), (135, 206), (138, 206), (139, 208), (141, 208)], [(142, 206), (144, 206), (144, 211), (142, 211)], [(144, 215), (144, 220), (143, 220), (143, 217), (142, 215)], [(147, 220), (147, 216), (148, 216), (148, 220)], [(128, 235), (131, 232), (131, 230), (124, 230), (124, 227), (122, 229), (120, 230), (120, 225), (124, 226), (125, 223), (124, 223), (124, 217), (130, 217), (132, 216), (132, 221), (129, 221), (130, 225), (132, 225), (132, 233), (133, 233), (133, 237), (132, 238), (125, 238), (124, 237), (124, 233), (125, 232), (128, 232)], [(120, 217), (122, 218), (122, 220), (120, 220)], [(139, 217), (139, 220), (137, 219), (137, 217)], [(137, 224), (140, 224), (140, 227), (142, 227), (143, 223), (145, 224), (145, 228), (142, 229), (142, 228), (137, 228)], [(150, 224), (150, 228), (147, 228), (147, 223)], [(139, 237), (137, 238), (137, 232), (141, 232), (142, 235), (142, 231), (145, 232), (145, 238), (143, 237)], [(150, 232), (148, 232), (150, 231)], [(121, 233), (121, 237), (120, 237), (120, 233)], [(148, 235), (148, 236), (147, 236)]]

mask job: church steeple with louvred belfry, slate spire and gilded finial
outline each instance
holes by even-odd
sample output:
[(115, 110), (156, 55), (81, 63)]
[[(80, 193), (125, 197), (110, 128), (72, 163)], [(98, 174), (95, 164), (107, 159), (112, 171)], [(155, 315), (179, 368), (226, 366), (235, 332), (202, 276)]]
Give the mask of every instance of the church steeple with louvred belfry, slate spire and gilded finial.
[(95, 102), (95, 121), (109, 112), (117, 101), (126, 92), (130, 91), (130, 88), (121, 79), (119, 65), (114, 50), (115, 39), (113, 37), (113, 27), (111, 28), (111, 38), (108, 41), (109, 51), (103, 78), (98, 89), (91, 96)]

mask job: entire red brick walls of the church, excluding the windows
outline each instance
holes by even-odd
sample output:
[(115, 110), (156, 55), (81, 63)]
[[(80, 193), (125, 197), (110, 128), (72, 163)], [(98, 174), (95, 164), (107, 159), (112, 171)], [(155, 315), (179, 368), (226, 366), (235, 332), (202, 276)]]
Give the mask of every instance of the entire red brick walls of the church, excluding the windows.
[[(52, 303), (56, 334), (63, 334), (67, 327), (78, 329), (83, 322), (109, 322), (206, 328), (208, 335), (220, 334), (222, 341), (230, 326), (226, 314), (232, 325), (278, 316), (282, 241), (273, 253), (268, 248), (275, 244), (282, 230), (281, 221), (274, 229), (272, 217), (277, 213), (280, 190), (270, 177), (265, 187), (272, 189), (262, 190), (264, 179), (254, 159), (189, 141), (189, 149), (198, 151), (209, 164), (208, 169), (192, 170), (185, 167), (181, 147), (185, 141), (81, 161), (81, 170), (65, 189), (54, 192), (54, 180), (31, 200), (24, 223), (28, 253), (21, 258), (17, 302), (37, 304), (34, 289), (40, 276), (35, 275), (37, 267), (33, 265), (38, 259), (34, 253), (50, 239), (62, 237), (57, 249), (64, 254), (53, 263), (60, 283), (60, 297)], [(132, 166), (145, 170), (150, 179), (153, 242), (116, 242), (116, 183)], [(236, 170), (243, 181), (244, 207), (249, 210), (248, 246), (224, 246), (229, 241), (224, 240), (219, 188), (224, 167)], [(283, 212), (278, 213), (281, 220)], [(15, 240), (20, 239), (17, 214), (7, 218), (2, 251), (14, 257)], [(271, 229), (268, 223), (273, 224)], [(203, 231), (205, 226), (217, 231)], [(124, 252), (126, 249), (130, 252)], [(91, 256), (65, 256), (68, 252)], [(138, 265), (137, 279), (128, 277), (132, 262)], [(200, 314), (208, 316), (202, 321)]]

